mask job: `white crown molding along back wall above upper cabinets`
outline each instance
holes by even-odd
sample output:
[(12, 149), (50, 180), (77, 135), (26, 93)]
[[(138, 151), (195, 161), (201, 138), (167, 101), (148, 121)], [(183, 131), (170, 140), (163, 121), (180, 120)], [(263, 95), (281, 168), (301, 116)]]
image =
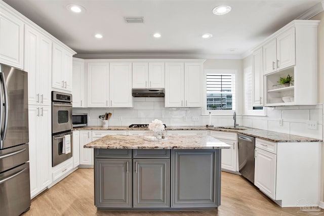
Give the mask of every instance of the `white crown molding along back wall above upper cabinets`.
[(76, 54), (73, 57), (79, 59), (242, 59), (240, 54)]

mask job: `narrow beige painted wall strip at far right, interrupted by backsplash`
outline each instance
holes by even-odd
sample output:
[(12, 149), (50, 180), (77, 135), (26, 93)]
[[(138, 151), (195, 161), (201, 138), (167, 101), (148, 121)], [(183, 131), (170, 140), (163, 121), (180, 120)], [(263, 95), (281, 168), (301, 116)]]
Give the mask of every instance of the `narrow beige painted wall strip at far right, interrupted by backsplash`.
[[(320, 20), (317, 27), (317, 43), (318, 43), (318, 102), (324, 103), (324, 12), (319, 13), (312, 20)], [(323, 115), (324, 119), (324, 115)], [(324, 135), (324, 131), (323, 131)], [(324, 139), (323, 139), (324, 140)], [(324, 208), (324, 145), (321, 148), (321, 202)]]

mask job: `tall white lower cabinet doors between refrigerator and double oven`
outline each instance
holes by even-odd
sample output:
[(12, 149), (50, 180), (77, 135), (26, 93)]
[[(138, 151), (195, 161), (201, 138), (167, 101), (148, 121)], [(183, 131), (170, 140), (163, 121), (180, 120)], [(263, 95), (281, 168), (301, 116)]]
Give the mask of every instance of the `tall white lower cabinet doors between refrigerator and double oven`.
[(51, 112), (49, 106), (29, 106), (30, 197), (52, 183)]

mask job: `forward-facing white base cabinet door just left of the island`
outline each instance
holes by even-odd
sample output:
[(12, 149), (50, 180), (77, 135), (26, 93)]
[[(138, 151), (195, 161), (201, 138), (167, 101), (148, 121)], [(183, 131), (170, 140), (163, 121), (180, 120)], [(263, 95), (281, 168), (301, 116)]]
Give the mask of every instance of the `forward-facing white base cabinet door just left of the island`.
[(80, 167), (93, 167), (93, 149), (84, 148), (91, 141), (91, 131), (80, 131)]

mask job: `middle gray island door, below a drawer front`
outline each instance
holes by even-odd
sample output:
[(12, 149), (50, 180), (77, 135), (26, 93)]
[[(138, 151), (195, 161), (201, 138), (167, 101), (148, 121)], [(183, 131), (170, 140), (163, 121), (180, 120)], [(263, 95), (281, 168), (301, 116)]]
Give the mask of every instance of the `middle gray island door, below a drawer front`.
[(134, 159), (134, 208), (170, 207), (170, 159)]

